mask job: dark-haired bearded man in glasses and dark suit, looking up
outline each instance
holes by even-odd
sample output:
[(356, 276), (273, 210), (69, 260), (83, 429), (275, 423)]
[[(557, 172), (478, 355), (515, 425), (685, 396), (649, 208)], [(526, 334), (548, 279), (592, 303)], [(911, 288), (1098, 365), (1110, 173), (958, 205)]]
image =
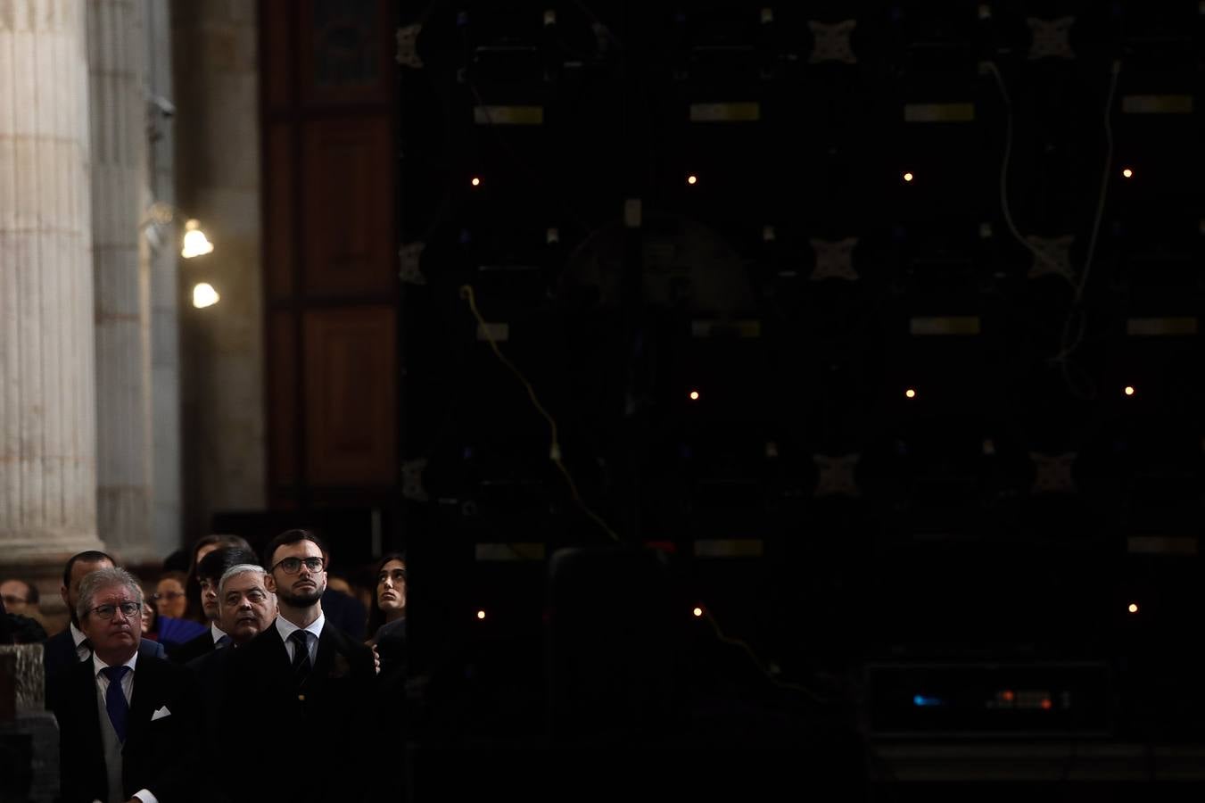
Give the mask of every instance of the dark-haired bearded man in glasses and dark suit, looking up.
[[(223, 728), (254, 733), (268, 723), (275, 733), (257, 744), (258, 761), (231, 779), (235, 799), (364, 799), (376, 670), (372, 651), (323, 616), (323, 555), (318, 538), (301, 529), (281, 533), (264, 551), (265, 588), (276, 593), (280, 614), (230, 656)], [(321, 768), (298, 764), (302, 744), (321, 756)]]

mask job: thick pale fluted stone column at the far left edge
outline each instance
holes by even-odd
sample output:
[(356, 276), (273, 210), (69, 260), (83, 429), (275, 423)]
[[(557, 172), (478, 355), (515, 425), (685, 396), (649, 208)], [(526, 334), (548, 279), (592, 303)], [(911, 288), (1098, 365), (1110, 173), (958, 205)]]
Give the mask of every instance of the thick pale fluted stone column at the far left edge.
[(0, 574), (43, 592), (100, 549), (84, 25), (0, 0)]

